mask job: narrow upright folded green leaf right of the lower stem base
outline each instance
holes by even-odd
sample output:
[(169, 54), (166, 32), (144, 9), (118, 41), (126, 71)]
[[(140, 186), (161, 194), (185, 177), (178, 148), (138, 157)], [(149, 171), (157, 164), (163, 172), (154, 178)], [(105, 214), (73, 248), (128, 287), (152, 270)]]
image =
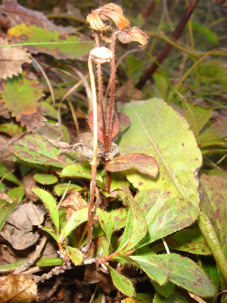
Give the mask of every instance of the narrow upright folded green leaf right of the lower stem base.
[(124, 254), (124, 252), (135, 248), (147, 232), (146, 220), (141, 208), (129, 190), (124, 186), (122, 186), (122, 189), (127, 195), (129, 212), (123, 238), (117, 249), (117, 252), (120, 254)]

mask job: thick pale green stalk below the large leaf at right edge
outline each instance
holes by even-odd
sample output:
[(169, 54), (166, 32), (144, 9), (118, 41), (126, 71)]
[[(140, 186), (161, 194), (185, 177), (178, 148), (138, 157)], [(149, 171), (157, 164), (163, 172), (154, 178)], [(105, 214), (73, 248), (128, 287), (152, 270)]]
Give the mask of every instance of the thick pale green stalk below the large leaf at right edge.
[(227, 260), (221, 249), (220, 243), (217, 239), (216, 233), (209, 218), (202, 212), (199, 214), (197, 224), (205, 238), (205, 241), (217, 263), (217, 266), (224, 278), (225, 283), (227, 283)]

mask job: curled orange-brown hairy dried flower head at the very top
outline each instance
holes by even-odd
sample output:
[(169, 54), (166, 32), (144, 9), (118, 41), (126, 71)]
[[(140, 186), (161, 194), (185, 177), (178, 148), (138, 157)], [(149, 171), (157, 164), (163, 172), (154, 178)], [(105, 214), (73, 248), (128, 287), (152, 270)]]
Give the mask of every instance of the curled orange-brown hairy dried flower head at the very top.
[(102, 20), (112, 20), (120, 30), (124, 30), (130, 25), (129, 20), (123, 15), (122, 8), (113, 3), (103, 5), (87, 16), (87, 22), (90, 23), (91, 28), (94, 30), (106, 31), (109, 29), (109, 26), (103, 23)]

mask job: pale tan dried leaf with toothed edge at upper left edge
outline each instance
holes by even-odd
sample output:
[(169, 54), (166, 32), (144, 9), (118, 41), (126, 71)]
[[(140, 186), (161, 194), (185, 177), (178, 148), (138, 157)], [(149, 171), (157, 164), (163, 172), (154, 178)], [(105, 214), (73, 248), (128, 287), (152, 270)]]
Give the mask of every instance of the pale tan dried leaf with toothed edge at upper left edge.
[[(0, 38), (0, 45), (9, 44), (8, 39)], [(22, 73), (22, 64), (31, 63), (27, 50), (22, 46), (0, 47), (0, 79), (12, 78)]]

